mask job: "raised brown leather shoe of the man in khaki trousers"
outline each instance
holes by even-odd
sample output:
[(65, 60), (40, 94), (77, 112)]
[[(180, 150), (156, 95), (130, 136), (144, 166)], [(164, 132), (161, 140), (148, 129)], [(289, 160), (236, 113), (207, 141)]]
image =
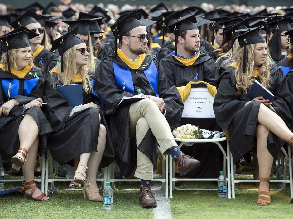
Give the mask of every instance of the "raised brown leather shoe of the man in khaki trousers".
[(184, 153), (180, 153), (180, 155), (174, 159), (174, 162), (177, 164), (181, 176), (190, 173), (200, 165), (198, 160), (185, 155)]

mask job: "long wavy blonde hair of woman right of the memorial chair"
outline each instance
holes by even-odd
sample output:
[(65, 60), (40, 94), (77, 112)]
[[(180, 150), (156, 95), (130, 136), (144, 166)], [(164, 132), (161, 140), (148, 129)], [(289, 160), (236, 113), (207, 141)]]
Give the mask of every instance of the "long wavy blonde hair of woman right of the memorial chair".
[[(257, 44), (250, 44), (246, 46), (246, 71), (243, 73), (243, 49), (244, 47), (235, 51), (235, 62), (237, 63), (237, 67), (234, 71), (235, 79), (236, 79), (236, 95), (240, 95), (241, 93), (247, 94), (247, 89), (249, 89), (254, 80), (252, 79), (253, 75), (253, 66), (254, 66), (254, 48)], [(264, 87), (269, 86), (270, 78), (270, 55), (267, 47), (267, 56), (265, 58), (265, 62), (259, 66), (258, 68), (258, 76), (260, 79), (260, 83)]]

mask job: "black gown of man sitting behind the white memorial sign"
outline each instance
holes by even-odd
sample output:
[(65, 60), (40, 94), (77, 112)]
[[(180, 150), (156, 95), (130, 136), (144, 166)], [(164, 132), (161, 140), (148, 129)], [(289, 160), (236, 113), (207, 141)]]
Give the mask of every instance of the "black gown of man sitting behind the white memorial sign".
[(185, 86), (190, 81), (205, 81), (214, 85), (219, 77), (215, 61), (207, 54), (201, 53), (196, 61), (190, 66), (186, 66), (169, 55), (163, 58), (161, 64), (165, 74), (176, 87)]

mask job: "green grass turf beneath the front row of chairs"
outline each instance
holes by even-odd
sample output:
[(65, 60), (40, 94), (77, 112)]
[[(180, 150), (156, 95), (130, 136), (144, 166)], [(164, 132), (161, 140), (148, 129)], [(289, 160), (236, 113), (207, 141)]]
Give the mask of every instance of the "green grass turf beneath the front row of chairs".
[[(21, 183), (11, 182), (6, 183), (5, 188), (17, 188), (20, 185)], [(2, 197), (0, 198), (0, 218), (156, 218), (152, 209), (143, 209), (139, 206), (138, 190), (114, 191), (113, 210), (105, 211), (103, 203), (83, 199), (82, 190), (60, 190), (66, 189), (67, 186), (68, 182), (55, 183), (55, 187), (59, 190), (57, 194), (50, 196), (52, 200), (49, 202), (35, 202), (24, 199), (20, 195)], [(129, 185), (126, 183), (116, 185), (119, 189), (136, 189), (138, 186), (139, 184)], [(215, 184), (210, 182), (183, 182), (182, 186), (217, 188)], [(256, 189), (257, 187), (254, 184), (246, 183), (237, 185), (237, 188)], [(271, 189), (274, 188), (276, 185), (271, 184)], [(289, 204), (291, 200), (289, 184), (284, 191), (272, 192), (272, 203), (269, 206), (255, 205), (257, 200), (257, 191), (255, 190), (236, 191), (236, 199), (219, 199), (217, 195), (217, 191), (174, 191), (173, 198), (170, 199), (173, 219), (293, 218), (293, 205)]]

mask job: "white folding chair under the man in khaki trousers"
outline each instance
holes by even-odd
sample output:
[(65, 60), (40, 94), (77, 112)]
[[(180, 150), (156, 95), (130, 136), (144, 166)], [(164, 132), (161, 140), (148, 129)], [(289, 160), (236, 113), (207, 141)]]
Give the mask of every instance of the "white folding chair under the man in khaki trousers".
[[(162, 188), (165, 189), (165, 197), (168, 198), (168, 155), (164, 155), (162, 149), (158, 146), (158, 151), (162, 155), (162, 178), (152, 179), (152, 182), (162, 182)], [(114, 163), (114, 162), (113, 162)], [(112, 188), (115, 190), (132, 190), (132, 189), (117, 189), (115, 182), (140, 182), (140, 179), (114, 179), (113, 163), (108, 168), (108, 181), (112, 182)], [(138, 189), (137, 189), (138, 190)]]

